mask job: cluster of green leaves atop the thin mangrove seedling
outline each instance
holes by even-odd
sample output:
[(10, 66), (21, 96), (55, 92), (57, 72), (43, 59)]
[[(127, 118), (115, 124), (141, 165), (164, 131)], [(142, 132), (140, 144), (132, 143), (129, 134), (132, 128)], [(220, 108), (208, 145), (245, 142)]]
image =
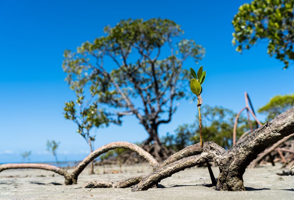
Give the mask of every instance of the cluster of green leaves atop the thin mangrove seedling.
[(197, 74), (191, 67), (190, 67), (190, 71), (192, 76), (194, 77), (194, 79), (191, 80), (190, 88), (191, 88), (191, 91), (198, 96), (202, 92), (201, 84), (204, 82), (206, 71), (203, 72), (202, 66), (199, 68)]

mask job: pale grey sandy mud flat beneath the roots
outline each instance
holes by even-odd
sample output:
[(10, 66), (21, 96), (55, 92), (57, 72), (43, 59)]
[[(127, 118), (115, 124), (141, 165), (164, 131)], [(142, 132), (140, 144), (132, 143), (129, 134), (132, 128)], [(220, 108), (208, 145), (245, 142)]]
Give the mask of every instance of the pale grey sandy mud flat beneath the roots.
[[(213, 167), (215, 176), (218, 168)], [(106, 167), (106, 172), (119, 171), (118, 166)], [(71, 171), (71, 170), (69, 170)], [(95, 167), (96, 174), (88, 175), (86, 168), (78, 177), (78, 184), (64, 185), (64, 177), (37, 169), (5, 170), (0, 173), (0, 199), (294, 199), (294, 176), (278, 176), (281, 165), (264, 165), (247, 169), (244, 186), (247, 191), (215, 191), (207, 168), (193, 167), (163, 179), (156, 189), (131, 192), (131, 188), (80, 188), (87, 181), (116, 182), (128, 177), (147, 175), (148, 164), (122, 166), (122, 173), (103, 174), (103, 167)], [(54, 175), (54, 176), (53, 176)], [(93, 195), (93, 196), (91, 196)]]

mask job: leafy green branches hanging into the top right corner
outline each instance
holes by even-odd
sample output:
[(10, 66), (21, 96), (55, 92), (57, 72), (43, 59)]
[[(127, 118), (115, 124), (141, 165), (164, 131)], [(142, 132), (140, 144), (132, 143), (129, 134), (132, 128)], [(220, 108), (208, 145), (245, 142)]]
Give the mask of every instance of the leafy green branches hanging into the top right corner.
[[(254, 0), (239, 7), (232, 24), (236, 50), (251, 48), (258, 39), (268, 39), (268, 54), (289, 65), (294, 60), (293, 0)], [(238, 42), (238, 44), (236, 43)]]

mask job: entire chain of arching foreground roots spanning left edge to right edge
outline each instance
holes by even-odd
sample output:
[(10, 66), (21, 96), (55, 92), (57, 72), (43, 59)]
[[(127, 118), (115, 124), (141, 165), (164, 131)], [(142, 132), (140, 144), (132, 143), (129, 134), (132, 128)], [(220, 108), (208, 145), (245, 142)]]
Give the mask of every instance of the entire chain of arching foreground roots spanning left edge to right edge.
[[(201, 145), (198, 143), (184, 148), (183, 150), (168, 157), (161, 164), (158, 164), (158, 162), (148, 152), (144, 151), (137, 145), (127, 142), (114, 142), (93, 151), (76, 167), (74, 172), (71, 174), (58, 167), (44, 164), (4, 164), (0, 165), (0, 172), (6, 169), (16, 168), (45, 169), (63, 175), (66, 179), (66, 184), (75, 184), (78, 175), (94, 158), (111, 149), (126, 148), (143, 156), (153, 167), (153, 172), (145, 178), (141, 177), (141, 179), (143, 179), (133, 187), (132, 191), (147, 190), (148, 188), (157, 185), (162, 179), (170, 177), (176, 172), (184, 170), (188, 167), (204, 164), (206, 162), (216, 162), (219, 167), (220, 173), (218, 176), (216, 190), (242, 191), (245, 190), (243, 185), (243, 174), (250, 162), (256, 159), (258, 154), (263, 152), (270, 145), (273, 145), (283, 138), (283, 140), (286, 141), (287, 137), (290, 138), (293, 136), (293, 130), (294, 107), (281, 113), (269, 123), (266, 123), (254, 130), (250, 135), (242, 138), (228, 152), (213, 142), (203, 143), (203, 150), (201, 152)], [(284, 141), (279, 141), (278, 143), (283, 142)], [(275, 145), (277, 145), (277, 143)], [(275, 145), (271, 148), (274, 148)], [(261, 155), (258, 157), (260, 156)], [(130, 187), (139, 180), (140, 178), (138, 177), (132, 177), (117, 183), (96, 182), (96, 185), (98, 186), (100, 184), (99, 186), (101, 187), (108, 187), (111, 185), (111, 187), (114, 187), (115, 185), (118, 186), (121, 184), (119, 187)]]

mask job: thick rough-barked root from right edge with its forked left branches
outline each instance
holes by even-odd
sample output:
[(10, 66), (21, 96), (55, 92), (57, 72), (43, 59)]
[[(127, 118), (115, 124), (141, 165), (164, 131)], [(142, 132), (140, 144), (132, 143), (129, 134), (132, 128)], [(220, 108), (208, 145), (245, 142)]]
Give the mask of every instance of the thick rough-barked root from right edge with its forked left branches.
[[(283, 137), (291, 135), (293, 130), (294, 107), (244, 137), (228, 152), (215, 143), (206, 142), (203, 145), (203, 151), (200, 155), (194, 155), (172, 162), (180, 158), (182, 153), (183, 155), (188, 155), (190, 153), (189, 149), (192, 149), (193, 153), (199, 153), (198, 144), (181, 150), (158, 165), (159, 169), (135, 185), (132, 191), (147, 190), (151, 185), (158, 183), (176, 172), (206, 162), (216, 162), (220, 169), (216, 190), (245, 190), (243, 174), (246, 167), (260, 152)], [(168, 164), (169, 162), (172, 163)]]

